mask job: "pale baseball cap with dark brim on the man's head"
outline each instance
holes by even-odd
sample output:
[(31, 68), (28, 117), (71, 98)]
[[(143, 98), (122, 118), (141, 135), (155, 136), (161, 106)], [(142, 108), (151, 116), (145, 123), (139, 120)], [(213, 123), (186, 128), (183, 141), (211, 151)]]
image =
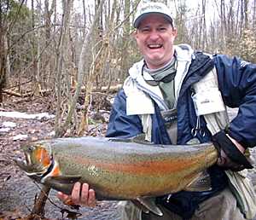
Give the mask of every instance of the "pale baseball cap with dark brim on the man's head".
[(165, 19), (168, 20), (172, 24), (172, 26), (174, 26), (172, 13), (164, 3), (144, 3), (141, 7), (139, 7), (137, 13), (135, 14), (133, 26), (137, 28), (140, 25), (140, 22), (146, 16), (148, 16), (148, 14), (152, 13), (162, 14)]

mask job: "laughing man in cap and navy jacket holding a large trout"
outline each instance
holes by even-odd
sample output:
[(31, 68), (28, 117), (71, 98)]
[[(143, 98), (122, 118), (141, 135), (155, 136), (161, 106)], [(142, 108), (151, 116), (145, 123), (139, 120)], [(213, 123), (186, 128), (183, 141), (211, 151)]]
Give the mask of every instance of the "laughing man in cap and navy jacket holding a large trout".
[[(144, 213), (129, 201), (122, 203), (122, 219), (245, 219), (224, 171), (252, 167), (243, 153), (256, 145), (255, 65), (224, 55), (205, 55), (187, 44), (175, 46), (177, 29), (162, 3), (144, 4), (134, 27), (143, 61), (131, 67), (130, 77), (115, 98), (107, 136), (129, 138), (143, 133), (145, 140), (156, 144), (212, 141), (219, 159), (218, 165), (207, 171), (211, 189), (156, 198), (162, 217)], [(224, 105), (239, 107), (239, 112), (225, 130), (226, 119), (221, 119), (222, 130), (213, 124), (212, 128), (219, 130), (213, 132), (209, 116), (225, 116)], [(77, 182), (72, 195), (58, 196), (95, 206), (95, 194), (88, 184)]]

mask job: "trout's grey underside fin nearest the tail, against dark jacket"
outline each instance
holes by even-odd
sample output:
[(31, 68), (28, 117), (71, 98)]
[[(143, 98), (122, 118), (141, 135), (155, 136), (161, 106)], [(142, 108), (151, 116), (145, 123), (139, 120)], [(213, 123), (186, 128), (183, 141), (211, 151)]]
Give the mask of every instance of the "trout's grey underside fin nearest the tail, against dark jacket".
[(189, 183), (186, 188), (184, 188), (185, 191), (209, 191), (212, 189), (211, 186), (211, 177), (208, 174), (207, 171), (202, 171), (198, 174), (198, 176)]

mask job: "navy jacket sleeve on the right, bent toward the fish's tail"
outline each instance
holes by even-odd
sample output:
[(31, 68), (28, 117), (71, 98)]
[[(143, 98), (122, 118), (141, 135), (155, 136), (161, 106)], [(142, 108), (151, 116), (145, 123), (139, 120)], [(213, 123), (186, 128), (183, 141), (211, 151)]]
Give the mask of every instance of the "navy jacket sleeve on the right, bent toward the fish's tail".
[(228, 133), (245, 148), (256, 146), (256, 65), (236, 57), (215, 56), (224, 104), (238, 107)]

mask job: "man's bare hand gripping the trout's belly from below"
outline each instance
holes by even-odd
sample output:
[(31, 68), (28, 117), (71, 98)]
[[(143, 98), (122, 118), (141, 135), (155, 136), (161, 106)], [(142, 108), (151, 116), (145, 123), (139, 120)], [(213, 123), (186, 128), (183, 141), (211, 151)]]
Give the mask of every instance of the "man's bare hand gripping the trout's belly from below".
[(71, 195), (58, 192), (57, 197), (67, 205), (96, 206), (95, 191), (87, 183), (76, 182)]

